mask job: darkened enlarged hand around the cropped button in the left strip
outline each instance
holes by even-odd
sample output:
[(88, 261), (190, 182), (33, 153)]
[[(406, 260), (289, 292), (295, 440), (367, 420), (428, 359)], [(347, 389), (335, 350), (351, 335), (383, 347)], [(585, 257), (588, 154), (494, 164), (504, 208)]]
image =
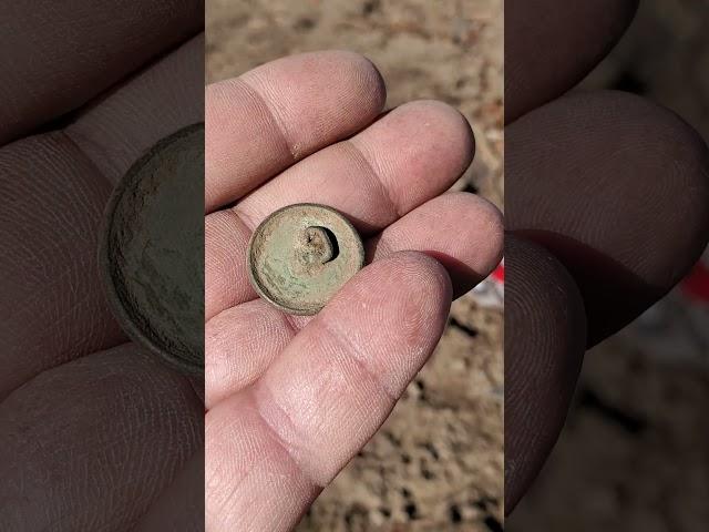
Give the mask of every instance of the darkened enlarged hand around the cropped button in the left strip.
[(203, 120), (203, 3), (2, 11), (0, 530), (199, 530), (199, 390), (127, 341), (95, 257), (123, 173)]

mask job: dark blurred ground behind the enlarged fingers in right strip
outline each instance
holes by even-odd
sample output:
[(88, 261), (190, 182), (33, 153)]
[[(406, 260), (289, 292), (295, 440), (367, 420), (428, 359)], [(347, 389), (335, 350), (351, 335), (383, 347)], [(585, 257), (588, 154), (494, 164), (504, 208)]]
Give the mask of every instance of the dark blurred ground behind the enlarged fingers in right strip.
[[(643, 94), (709, 140), (707, 30), (709, 1), (641, 0), (579, 89)], [(508, 531), (708, 530), (707, 272), (586, 355), (563, 436)]]

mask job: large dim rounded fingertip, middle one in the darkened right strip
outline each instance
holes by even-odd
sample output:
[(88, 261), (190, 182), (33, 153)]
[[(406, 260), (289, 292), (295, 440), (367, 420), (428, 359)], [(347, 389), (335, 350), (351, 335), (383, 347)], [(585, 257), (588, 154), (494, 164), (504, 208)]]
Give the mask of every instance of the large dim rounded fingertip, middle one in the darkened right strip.
[(706, 247), (709, 151), (674, 113), (580, 93), (526, 114), (505, 139), (507, 228), (572, 274), (588, 346), (664, 296)]

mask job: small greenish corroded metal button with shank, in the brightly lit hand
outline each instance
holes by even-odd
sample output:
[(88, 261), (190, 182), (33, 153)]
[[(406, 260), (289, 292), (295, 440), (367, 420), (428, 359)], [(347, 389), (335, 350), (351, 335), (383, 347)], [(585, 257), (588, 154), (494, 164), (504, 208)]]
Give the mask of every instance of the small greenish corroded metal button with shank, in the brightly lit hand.
[(248, 245), (256, 291), (279, 309), (317, 314), (364, 265), (362, 241), (331, 207), (304, 203), (273, 213)]

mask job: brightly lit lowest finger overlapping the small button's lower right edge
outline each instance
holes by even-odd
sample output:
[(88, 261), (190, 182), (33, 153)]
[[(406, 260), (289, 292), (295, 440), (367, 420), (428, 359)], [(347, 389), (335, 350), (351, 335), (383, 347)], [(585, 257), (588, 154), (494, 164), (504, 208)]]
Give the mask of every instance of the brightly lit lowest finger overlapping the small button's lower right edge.
[(450, 303), (448, 274), (422, 254), (356, 275), (257, 383), (207, 413), (207, 528), (295, 525), (384, 421)]

